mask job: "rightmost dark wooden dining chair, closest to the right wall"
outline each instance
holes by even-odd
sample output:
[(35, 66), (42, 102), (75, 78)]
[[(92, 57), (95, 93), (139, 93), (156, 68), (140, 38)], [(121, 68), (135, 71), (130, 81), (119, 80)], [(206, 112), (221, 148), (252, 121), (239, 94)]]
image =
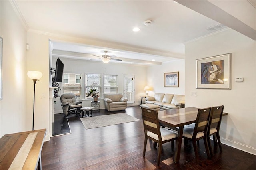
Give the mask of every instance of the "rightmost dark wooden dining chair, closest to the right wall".
[[(215, 106), (212, 107), (209, 119), (209, 126), (207, 130), (207, 142), (211, 154), (211, 158), (213, 156), (212, 146), (210, 143), (210, 136), (213, 136), (214, 145), (216, 145), (216, 138), (218, 139), (218, 145), (220, 148), (220, 152), (222, 152), (222, 147), (220, 144), (220, 123), (222, 119), (224, 106)], [(215, 138), (216, 137), (216, 138)]]

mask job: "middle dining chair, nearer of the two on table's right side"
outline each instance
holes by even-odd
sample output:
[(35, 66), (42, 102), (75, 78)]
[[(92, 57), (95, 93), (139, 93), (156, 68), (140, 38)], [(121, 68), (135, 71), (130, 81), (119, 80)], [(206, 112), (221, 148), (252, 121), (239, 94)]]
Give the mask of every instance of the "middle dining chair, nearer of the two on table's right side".
[(210, 153), (209, 153), (209, 148), (207, 144), (207, 127), (208, 127), (209, 118), (210, 118), (210, 110), (211, 110), (210, 107), (204, 108), (204, 109), (198, 109), (194, 128), (185, 126), (183, 130), (183, 135), (182, 135), (184, 140), (192, 140), (194, 152), (196, 155), (196, 162), (200, 165), (201, 165), (201, 162), (199, 161), (198, 148), (196, 145), (196, 141), (200, 139), (204, 140), (204, 146), (206, 149), (207, 157), (210, 159)]

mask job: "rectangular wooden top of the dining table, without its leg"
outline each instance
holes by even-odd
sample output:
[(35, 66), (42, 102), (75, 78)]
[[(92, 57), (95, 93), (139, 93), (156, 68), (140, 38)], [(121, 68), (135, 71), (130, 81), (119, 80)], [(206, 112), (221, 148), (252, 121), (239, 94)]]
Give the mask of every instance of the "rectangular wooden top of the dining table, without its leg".
[[(196, 107), (185, 107), (180, 109), (158, 111), (158, 119), (162, 124), (168, 124), (172, 127), (180, 127), (196, 122), (198, 113)], [(227, 115), (228, 113), (223, 113)]]

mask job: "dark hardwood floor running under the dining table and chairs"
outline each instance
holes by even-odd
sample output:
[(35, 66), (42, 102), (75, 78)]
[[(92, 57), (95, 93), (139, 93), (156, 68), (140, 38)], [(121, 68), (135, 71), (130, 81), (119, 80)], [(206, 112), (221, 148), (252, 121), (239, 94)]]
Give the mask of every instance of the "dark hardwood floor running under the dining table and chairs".
[[(142, 120), (140, 107), (126, 111), (108, 112), (101, 109), (93, 116), (123, 113)], [(223, 152), (214, 150), (212, 160), (207, 160), (204, 144), (199, 143), (202, 166), (195, 161), (192, 143), (182, 144), (180, 162), (173, 162), (170, 142), (163, 145), (160, 166), (156, 166), (157, 149), (148, 141), (146, 156), (142, 157), (144, 130), (142, 121), (86, 130), (79, 117), (69, 119), (71, 134), (51, 137), (42, 148), (43, 170), (155, 170), (155, 169), (209, 169), (246, 170), (256, 168), (256, 156), (222, 145)], [(175, 146), (174, 146), (175, 150)]]

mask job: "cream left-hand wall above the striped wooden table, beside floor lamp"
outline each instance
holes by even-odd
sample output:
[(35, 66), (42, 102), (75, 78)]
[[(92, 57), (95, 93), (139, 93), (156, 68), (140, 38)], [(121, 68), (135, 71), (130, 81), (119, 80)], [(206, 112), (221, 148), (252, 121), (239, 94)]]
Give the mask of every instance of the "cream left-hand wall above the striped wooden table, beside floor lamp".
[[(3, 99), (0, 101), (0, 136), (2, 137), (4, 134), (32, 130), (32, 114), (27, 114), (26, 110), (26, 30), (10, 2), (0, 3), (3, 38)], [(33, 84), (32, 80), (29, 83)], [(31, 119), (28, 119), (29, 117)]]

